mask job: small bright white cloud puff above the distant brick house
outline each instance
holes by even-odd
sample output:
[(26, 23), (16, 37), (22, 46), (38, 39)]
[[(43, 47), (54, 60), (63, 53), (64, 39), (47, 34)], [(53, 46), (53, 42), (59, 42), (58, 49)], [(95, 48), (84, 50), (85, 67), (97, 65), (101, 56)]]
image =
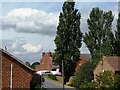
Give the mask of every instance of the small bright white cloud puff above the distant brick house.
[(22, 46), (22, 48), (24, 50), (26, 50), (27, 53), (37, 53), (40, 52), (42, 50), (42, 46), (41, 45), (32, 45), (30, 43), (26, 43), (25, 45)]

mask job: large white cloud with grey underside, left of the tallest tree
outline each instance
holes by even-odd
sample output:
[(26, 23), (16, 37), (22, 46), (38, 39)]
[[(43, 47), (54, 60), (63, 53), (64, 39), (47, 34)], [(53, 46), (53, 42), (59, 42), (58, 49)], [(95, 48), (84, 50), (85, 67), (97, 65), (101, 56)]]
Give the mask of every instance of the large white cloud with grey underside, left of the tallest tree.
[(58, 15), (31, 8), (14, 9), (2, 17), (2, 30), (55, 35)]

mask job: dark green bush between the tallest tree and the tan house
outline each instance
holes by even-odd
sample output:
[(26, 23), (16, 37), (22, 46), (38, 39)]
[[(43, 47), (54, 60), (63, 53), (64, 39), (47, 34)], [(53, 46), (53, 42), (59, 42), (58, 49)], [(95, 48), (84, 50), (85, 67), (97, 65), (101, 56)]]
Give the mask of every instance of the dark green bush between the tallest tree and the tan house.
[(80, 68), (80, 71), (76, 72), (74, 86), (79, 88), (79, 86), (84, 82), (91, 82), (93, 80), (93, 70), (96, 66), (98, 60), (86, 61)]

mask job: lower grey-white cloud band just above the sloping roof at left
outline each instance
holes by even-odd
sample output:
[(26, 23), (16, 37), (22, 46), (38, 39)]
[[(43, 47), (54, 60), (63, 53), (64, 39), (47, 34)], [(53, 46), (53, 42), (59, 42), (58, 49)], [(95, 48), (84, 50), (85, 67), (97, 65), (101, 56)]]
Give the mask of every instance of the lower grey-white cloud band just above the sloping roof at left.
[(20, 54), (35, 54), (43, 50), (42, 45), (33, 45), (24, 40), (3, 40), (3, 48), (6, 46), (7, 49), (15, 55)]

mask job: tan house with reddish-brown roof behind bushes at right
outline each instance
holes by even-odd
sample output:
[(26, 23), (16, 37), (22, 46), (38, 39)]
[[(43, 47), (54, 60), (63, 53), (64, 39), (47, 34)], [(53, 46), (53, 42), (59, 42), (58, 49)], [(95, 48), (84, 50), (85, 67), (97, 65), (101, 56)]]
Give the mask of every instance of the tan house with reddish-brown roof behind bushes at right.
[(120, 57), (104, 56), (94, 69), (94, 79), (96, 75), (99, 75), (99, 73), (104, 71), (112, 71), (113, 73), (120, 74)]

